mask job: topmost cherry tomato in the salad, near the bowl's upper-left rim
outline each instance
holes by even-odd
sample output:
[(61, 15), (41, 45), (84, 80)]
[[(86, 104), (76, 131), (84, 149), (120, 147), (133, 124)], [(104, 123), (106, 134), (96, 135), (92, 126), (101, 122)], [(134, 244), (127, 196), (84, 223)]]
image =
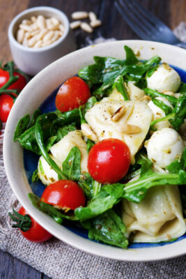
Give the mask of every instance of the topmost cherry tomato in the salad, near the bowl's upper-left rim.
[(80, 77), (70, 77), (60, 87), (56, 96), (56, 108), (61, 112), (68, 112), (80, 105), (84, 105), (91, 92), (84, 80)]

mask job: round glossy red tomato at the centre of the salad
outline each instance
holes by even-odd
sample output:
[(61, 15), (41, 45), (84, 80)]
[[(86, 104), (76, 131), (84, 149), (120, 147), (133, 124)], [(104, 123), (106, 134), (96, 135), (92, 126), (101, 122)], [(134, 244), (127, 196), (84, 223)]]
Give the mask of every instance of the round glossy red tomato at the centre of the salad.
[(88, 154), (88, 172), (100, 183), (116, 183), (130, 166), (130, 149), (117, 139), (102, 140)]

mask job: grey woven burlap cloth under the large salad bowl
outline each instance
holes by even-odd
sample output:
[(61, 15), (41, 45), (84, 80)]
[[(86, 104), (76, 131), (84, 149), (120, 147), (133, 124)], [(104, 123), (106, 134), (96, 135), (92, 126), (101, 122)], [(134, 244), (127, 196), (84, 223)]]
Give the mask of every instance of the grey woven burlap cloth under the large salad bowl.
[[(186, 40), (186, 24), (176, 34)], [(96, 257), (52, 238), (31, 243), (10, 227), (8, 211), (19, 204), (3, 167), (3, 134), (0, 136), (0, 248), (54, 279), (184, 279), (186, 256), (162, 262), (127, 263)], [(186, 250), (186, 247), (185, 247)]]

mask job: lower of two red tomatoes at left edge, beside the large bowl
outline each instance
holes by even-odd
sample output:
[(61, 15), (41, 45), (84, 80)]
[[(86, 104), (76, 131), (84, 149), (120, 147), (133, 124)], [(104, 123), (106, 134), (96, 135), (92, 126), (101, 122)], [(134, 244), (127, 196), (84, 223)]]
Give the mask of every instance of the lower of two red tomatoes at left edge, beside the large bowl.
[(2, 94), (0, 96), (0, 120), (6, 122), (11, 108), (13, 107), (13, 98), (9, 95)]

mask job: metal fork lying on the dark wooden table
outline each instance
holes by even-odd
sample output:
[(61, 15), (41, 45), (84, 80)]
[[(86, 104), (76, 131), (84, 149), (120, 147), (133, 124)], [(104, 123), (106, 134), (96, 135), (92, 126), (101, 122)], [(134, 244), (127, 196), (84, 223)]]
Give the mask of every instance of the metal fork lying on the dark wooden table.
[(186, 43), (176, 38), (166, 24), (144, 9), (138, 1), (116, 0), (114, 4), (127, 24), (141, 39), (186, 48)]

